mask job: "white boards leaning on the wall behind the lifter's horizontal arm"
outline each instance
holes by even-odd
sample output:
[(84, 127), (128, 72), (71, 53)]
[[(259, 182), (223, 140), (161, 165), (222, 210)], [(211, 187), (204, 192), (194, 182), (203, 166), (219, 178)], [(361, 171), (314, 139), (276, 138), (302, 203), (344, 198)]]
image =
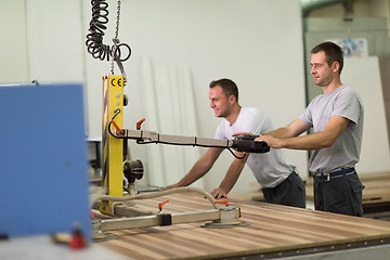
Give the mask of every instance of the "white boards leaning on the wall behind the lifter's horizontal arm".
[[(164, 134), (196, 134), (196, 114), (188, 69), (179, 66), (154, 66), (143, 58), (142, 108), (148, 115), (143, 126)], [(190, 95), (188, 95), (190, 93)], [(193, 127), (184, 131), (187, 127)], [(151, 171), (147, 178), (152, 185), (168, 185), (180, 180), (199, 157), (191, 146), (167, 144), (148, 145), (146, 161)], [(191, 164), (188, 164), (188, 159)], [(203, 186), (202, 181), (194, 183)]]

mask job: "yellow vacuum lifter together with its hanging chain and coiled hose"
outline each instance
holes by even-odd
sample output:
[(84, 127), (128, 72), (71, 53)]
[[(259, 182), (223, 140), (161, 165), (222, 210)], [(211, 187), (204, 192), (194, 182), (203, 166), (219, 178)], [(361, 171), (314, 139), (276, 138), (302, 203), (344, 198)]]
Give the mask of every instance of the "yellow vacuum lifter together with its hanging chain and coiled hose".
[[(141, 130), (142, 120), (136, 123), (136, 130), (123, 129), (123, 106), (127, 98), (123, 95), (123, 87), (127, 82), (121, 62), (128, 60), (131, 49), (126, 43), (119, 43), (118, 27), (120, 14), (120, 0), (118, 1), (116, 36), (110, 48), (103, 44), (103, 30), (108, 22), (107, 6), (104, 0), (92, 0), (92, 21), (90, 34), (87, 35), (86, 44), (93, 57), (107, 61), (110, 57), (110, 75), (103, 76), (103, 118), (102, 118), (102, 184), (104, 195), (91, 199), (91, 204), (99, 203), (100, 213), (110, 219), (94, 220), (92, 225), (95, 234), (109, 231), (152, 225), (169, 225), (174, 223), (187, 223), (197, 221), (212, 221), (216, 225), (243, 225), (239, 221), (239, 208), (230, 206), (227, 202), (216, 202), (207, 192), (195, 187), (178, 187), (162, 192), (139, 194), (134, 188), (135, 180), (143, 177), (144, 168), (141, 160), (127, 160), (128, 140), (135, 140), (138, 144), (160, 143), (171, 145), (188, 145), (202, 147), (227, 148), (234, 156), (234, 151), (244, 153), (266, 153), (270, 151), (264, 142), (256, 142), (253, 135), (239, 135), (233, 140), (203, 139), (196, 136), (180, 136), (159, 134), (154, 131)], [(120, 48), (128, 50), (126, 58), (121, 58)], [(121, 76), (114, 75), (114, 62), (120, 68)], [(245, 155), (240, 158), (244, 158)], [(237, 157), (238, 158), (238, 157)], [(123, 186), (123, 176), (128, 180), (128, 186)], [(123, 195), (123, 190), (127, 195)], [(161, 203), (158, 213), (145, 212), (125, 204), (128, 200), (147, 199), (165, 196), (171, 193), (196, 192), (208, 198), (212, 209), (187, 213), (165, 213)], [(221, 203), (224, 206), (221, 206)], [(114, 217), (114, 218), (113, 218)], [(120, 218), (117, 218), (120, 217)]]

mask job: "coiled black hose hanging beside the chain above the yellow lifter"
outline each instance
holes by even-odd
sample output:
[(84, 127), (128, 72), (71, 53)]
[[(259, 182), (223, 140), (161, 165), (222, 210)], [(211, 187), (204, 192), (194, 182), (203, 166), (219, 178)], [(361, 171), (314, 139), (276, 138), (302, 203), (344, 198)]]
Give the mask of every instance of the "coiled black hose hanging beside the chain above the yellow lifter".
[[(89, 34), (87, 35), (87, 50), (94, 57), (101, 61), (107, 60), (109, 62), (113, 47), (103, 43), (105, 25), (108, 23), (108, 3), (105, 0), (91, 0), (92, 4), (92, 20), (90, 22)], [(120, 48), (125, 47), (128, 50), (128, 55), (121, 57)], [(127, 43), (118, 43), (115, 51), (115, 58), (120, 62), (129, 60), (131, 55), (131, 48)]]

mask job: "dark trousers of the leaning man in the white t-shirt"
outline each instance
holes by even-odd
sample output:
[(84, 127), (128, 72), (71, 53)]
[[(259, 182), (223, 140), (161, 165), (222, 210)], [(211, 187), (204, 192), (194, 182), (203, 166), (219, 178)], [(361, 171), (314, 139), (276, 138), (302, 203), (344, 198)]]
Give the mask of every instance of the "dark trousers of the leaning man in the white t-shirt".
[(266, 203), (306, 208), (306, 184), (295, 171), (277, 186), (262, 192)]

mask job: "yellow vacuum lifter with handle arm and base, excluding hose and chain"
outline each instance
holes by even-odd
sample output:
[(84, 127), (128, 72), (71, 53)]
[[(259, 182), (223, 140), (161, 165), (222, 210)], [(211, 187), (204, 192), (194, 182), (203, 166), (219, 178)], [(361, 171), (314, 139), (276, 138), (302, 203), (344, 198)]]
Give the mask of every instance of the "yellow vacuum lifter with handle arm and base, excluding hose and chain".
[[(154, 131), (141, 130), (140, 121), (136, 130), (122, 129), (123, 123), (123, 98), (122, 76), (104, 76), (104, 109), (103, 109), (103, 184), (106, 195), (99, 197), (100, 212), (112, 217), (126, 217), (120, 219), (108, 219), (95, 221), (93, 226), (95, 232), (109, 230), (121, 230), (130, 227), (142, 227), (151, 225), (169, 225), (174, 223), (213, 221), (205, 226), (212, 225), (239, 225), (245, 222), (239, 221), (239, 208), (230, 206), (227, 202), (221, 207), (214, 198), (207, 192), (194, 187), (179, 187), (162, 192), (139, 194), (134, 188), (135, 180), (143, 177), (144, 169), (140, 160), (126, 160), (123, 151), (127, 150), (129, 139), (135, 140), (139, 144), (161, 143), (171, 145), (188, 145), (202, 147), (220, 147), (235, 150), (244, 153), (266, 153), (270, 147), (264, 142), (256, 142), (255, 135), (238, 135), (233, 140), (204, 139), (197, 136), (181, 136), (160, 134)], [(232, 151), (231, 151), (232, 152)], [(232, 152), (233, 153), (233, 152)], [(242, 157), (244, 158), (244, 157)], [(123, 187), (123, 176), (128, 180), (128, 187)], [(123, 196), (123, 188), (129, 195)], [(132, 207), (123, 204), (126, 200), (147, 199), (165, 196), (171, 193), (196, 192), (208, 198), (212, 209), (188, 213), (164, 213), (160, 209), (158, 213), (140, 212)], [(161, 207), (162, 208), (162, 207)]]

